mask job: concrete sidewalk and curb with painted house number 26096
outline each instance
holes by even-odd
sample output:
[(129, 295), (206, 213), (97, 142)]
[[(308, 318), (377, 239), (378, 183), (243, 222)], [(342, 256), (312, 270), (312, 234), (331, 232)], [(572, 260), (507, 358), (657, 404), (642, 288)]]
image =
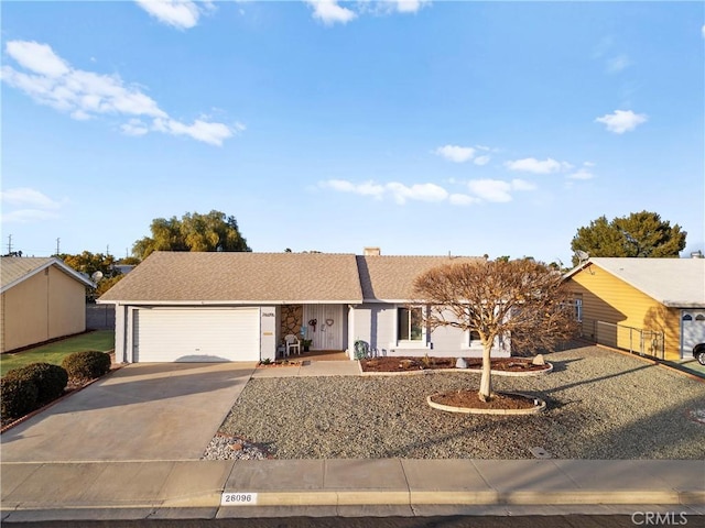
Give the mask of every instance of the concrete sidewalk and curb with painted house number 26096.
[(1, 520), (9, 521), (644, 508), (705, 515), (705, 461), (691, 460), (28, 462), (1, 471)]

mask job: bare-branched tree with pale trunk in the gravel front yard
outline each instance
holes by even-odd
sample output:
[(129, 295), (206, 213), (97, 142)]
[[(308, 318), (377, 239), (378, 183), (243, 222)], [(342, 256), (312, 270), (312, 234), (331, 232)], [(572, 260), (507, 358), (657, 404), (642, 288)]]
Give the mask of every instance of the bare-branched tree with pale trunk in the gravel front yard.
[(492, 398), (490, 352), (509, 337), (512, 349), (552, 350), (576, 329), (573, 300), (560, 273), (544, 264), (476, 261), (446, 264), (416, 277), (414, 298), (429, 306), (429, 328), (476, 331), (482, 343), (479, 398)]

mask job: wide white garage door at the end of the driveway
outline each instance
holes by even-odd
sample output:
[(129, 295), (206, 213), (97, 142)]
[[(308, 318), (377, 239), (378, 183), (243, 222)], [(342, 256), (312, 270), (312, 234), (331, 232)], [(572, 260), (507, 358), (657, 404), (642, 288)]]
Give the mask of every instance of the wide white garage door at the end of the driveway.
[(141, 308), (132, 361), (258, 361), (259, 317), (259, 308)]

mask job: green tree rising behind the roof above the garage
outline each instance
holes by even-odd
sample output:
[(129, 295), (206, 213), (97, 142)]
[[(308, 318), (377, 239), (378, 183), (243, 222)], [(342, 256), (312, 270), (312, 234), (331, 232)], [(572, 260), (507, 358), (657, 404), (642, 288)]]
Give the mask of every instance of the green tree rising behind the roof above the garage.
[(187, 212), (182, 218), (155, 218), (151, 237), (138, 240), (132, 254), (143, 260), (153, 251), (252, 251), (240, 234), (235, 217), (210, 211)]

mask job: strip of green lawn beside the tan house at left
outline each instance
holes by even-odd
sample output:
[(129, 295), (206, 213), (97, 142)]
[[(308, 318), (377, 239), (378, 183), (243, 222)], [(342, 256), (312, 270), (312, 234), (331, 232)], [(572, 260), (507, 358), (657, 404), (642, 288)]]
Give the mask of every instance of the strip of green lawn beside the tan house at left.
[(61, 365), (62, 360), (73, 352), (83, 352), (85, 350), (108, 352), (113, 348), (115, 332), (112, 330), (96, 330), (95, 332), (82, 333), (54, 343), (23, 350), (22, 352), (0, 355), (0, 376), (4, 376), (12, 369), (29, 365), (30, 363), (42, 362)]

